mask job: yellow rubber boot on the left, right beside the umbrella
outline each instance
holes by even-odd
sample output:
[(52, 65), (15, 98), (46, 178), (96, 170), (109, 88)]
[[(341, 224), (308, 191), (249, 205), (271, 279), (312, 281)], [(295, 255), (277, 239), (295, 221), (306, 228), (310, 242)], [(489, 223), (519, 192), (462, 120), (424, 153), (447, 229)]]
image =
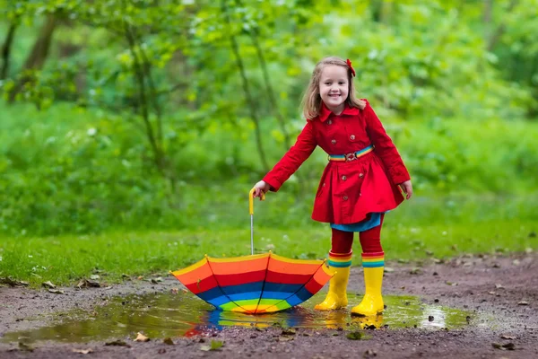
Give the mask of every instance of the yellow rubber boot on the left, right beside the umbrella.
[(329, 293), (325, 301), (316, 304), (317, 311), (333, 311), (347, 306), (347, 284), (350, 278), (351, 252), (337, 254), (329, 252), (329, 268), (336, 273), (329, 282)]

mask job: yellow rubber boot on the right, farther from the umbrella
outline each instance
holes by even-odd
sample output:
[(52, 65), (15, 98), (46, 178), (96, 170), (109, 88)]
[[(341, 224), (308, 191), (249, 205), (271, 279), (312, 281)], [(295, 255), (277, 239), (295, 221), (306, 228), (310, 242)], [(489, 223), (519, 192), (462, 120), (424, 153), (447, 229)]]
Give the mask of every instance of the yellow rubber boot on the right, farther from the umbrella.
[(351, 315), (369, 317), (381, 314), (385, 309), (381, 296), (385, 254), (383, 252), (363, 253), (362, 267), (364, 267), (364, 286), (366, 290), (362, 302), (351, 309)]

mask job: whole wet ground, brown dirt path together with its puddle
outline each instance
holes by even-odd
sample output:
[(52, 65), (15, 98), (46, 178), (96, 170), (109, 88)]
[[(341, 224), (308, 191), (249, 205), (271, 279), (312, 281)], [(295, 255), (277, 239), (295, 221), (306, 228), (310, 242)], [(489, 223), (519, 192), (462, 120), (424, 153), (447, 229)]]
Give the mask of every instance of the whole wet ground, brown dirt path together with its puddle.
[[(534, 253), (388, 262), (386, 312), (369, 320), (315, 301), (261, 317), (211, 311), (173, 277), (63, 294), (0, 287), (0, 358), (535, 358), (537, 269)], [(361, 287), (353, 268), (350, 308)]]

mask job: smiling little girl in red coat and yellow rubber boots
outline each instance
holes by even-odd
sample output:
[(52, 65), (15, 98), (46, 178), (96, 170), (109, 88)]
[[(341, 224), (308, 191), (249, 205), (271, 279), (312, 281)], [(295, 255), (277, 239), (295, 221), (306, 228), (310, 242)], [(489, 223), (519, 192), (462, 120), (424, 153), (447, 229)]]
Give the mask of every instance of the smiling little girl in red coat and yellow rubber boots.
[(276, 192), (317, 145), (328, 153), (325, 171), (317, 188), (312, 219), (331, 223), (331, 279), (319, 311), (347, 306), (353, 232), (359, 232), (366, 291), (351, 315), (371, 316), (384, 309), (381, 284), (385, 253), (380, 232), (383, 217), (412, 197), (409, 172), (395, 144), (386, 135), (366, 100), (355, 98), (351, 61), (325, 57), (317, 63), (303, 99), (307, 124), (297, 142), (272, 171), (255, 185), (255, 197)]

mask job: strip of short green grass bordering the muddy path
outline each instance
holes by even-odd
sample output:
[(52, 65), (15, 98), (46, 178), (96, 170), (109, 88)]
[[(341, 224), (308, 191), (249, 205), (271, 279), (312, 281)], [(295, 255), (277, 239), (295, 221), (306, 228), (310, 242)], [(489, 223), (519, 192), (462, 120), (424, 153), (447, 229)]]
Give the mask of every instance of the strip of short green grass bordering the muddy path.
[[(481, 223), (412, 225), (388, 218), (382, 232), (386, 260), (453, 257), (461, 253), (538, 250), (536, 221), (493, 220)], [(531, 235), (529, 235), (531, 234)], [(256, 252), (290, 258), (325, 258), (328, 228), (291, 230), (257, 228)], [(360, 246), (354, 246), (353, 265), (360, 265)], [(0, 245), (0, 277), (12, 276), (40, 285), (68, 285), (100, 270), (101, 280), (117, 282), (129, 276), (166, 275), (208, 254), (232, 257), (250, 253), (250, 231), (110, 232), (94, 236), (4, 238)]]

